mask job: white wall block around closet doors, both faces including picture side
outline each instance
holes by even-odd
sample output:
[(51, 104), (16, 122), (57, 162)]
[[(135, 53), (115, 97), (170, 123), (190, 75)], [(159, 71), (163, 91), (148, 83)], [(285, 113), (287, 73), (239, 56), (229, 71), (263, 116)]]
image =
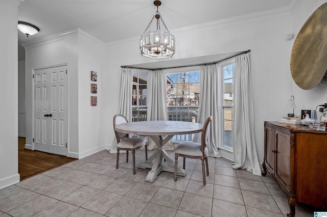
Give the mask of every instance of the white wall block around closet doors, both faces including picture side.
[[(106, 148), (105, 46), (76, 29), (31, 43), (26, 48), (26, 143), (32, 145), (33, 69), (68, 63), (68, 156), (82, 158)], [(90, 92), (90, 71), (98, 72), (98, 93)], [(98, 105), (90, 105), (90, 96)], [(28, 145), (27, 145), (28, 146)]]

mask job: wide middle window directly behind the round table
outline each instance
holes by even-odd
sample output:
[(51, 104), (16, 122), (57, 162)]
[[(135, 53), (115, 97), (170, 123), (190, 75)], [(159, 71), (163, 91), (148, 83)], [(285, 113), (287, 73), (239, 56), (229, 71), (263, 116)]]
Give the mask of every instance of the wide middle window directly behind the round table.
[[(199, 70), (184, 69), (167, 73), (168, 120), (196, 122), (199, 113), (199, 94)], [(192, 134), (175, 135), (173, 140), (192, 141)]]

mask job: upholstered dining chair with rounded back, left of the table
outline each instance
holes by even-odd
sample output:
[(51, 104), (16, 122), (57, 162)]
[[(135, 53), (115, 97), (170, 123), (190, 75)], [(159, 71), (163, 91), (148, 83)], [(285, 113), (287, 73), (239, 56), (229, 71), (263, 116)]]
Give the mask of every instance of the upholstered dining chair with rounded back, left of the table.
[(129, 138), (127, 133), (118, 132), (114, 127), (118, 124), (127, 123), (128, 120), (123, 115), (115, 115), (113, 117), (113, 130), (117, 140), (117, 161), (116, 169), (119, 165), (119, 151), (126, 151), (126, 162), (128, 162), (128, 151), (132, 152), (133, 159), (133, 174), (135, 174), (135, 150), (145, 146), (145, 159), (148, 159), (148, 149), (147, 149), (147, 140), (145, 138)]

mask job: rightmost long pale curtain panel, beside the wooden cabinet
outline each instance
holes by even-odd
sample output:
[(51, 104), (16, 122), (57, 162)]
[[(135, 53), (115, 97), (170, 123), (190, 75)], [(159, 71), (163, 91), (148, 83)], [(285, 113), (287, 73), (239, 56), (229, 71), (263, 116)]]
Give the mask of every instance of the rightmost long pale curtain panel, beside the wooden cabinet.
[(254, 138), (254, 113), (250, 62), (247, 53), (235, 57), (234, 70), (234, 169), (246, 169), (261, 176)]

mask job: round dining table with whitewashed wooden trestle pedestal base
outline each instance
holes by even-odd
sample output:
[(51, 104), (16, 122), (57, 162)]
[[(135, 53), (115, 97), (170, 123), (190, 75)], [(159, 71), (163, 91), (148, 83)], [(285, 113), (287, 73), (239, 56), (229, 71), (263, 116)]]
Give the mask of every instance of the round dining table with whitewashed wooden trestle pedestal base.
[[(150, 137), (157, 145), (157, 150), (148, 160), (137, 165), (138, 168), (150, 168), (145, 181), (154, 182), (161, 171), (174, 173), (175, 161), (162, 147), (174, 135), (192, 134), (201, 132), (203, 124), (186, 121), (138, 121), (128, 122), (115, 126), (115, 130), (128, 134), (144, 135)], [(168, 166), (164, 165), (165, 160)], [(152, 162), (153, 161), (153, 162)], [(186, 175), (186, 171), (181, 167), (178, 168), (177, 174)]]

